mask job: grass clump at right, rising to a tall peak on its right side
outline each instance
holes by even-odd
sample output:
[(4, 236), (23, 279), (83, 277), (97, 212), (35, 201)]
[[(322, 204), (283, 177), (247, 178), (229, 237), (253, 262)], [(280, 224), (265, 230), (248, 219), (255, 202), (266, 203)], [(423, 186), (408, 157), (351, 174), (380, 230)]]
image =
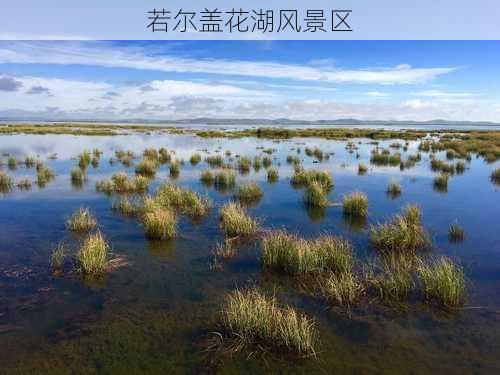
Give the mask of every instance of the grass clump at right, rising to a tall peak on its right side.
[(408, 205), (388, 223), (372, 226), (370, 239), (376, 249), (385, 253), (415, 253), (430, 246), (420, 209)]

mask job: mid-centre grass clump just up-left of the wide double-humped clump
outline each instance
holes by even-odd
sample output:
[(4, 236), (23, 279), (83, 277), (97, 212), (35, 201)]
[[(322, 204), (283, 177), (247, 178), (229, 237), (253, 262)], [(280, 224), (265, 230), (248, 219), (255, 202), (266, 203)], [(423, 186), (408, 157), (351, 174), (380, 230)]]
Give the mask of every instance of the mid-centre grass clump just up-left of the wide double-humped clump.
[(220, 220), (224, 232), (231, 237), (252, 236), (259, 229), (259, 223), (240, 204), (234, 202), (222, 206)]

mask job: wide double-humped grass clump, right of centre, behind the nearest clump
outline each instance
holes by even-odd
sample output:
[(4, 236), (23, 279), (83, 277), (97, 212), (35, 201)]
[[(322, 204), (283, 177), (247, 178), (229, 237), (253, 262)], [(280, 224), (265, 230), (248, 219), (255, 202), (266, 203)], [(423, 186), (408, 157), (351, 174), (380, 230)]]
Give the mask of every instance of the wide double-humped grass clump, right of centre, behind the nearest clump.
[(284, 230), (267, 233), (261, 241), (265, 267), (297, 275), (348, 272), (354, 264), (352, 246), (340, 237), (323, 235), (305, 240)]

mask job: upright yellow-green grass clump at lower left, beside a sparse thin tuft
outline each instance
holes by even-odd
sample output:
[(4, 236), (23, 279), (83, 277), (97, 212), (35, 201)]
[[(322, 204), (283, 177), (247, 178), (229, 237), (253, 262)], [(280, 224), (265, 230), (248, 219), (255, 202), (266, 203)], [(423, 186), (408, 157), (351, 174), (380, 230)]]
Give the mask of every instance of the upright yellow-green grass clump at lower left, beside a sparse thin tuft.
[(101, 232), (89, 235), (76, 254), (80, 272), (96, 275), (106, 271), (108, 250), (109, 245)]

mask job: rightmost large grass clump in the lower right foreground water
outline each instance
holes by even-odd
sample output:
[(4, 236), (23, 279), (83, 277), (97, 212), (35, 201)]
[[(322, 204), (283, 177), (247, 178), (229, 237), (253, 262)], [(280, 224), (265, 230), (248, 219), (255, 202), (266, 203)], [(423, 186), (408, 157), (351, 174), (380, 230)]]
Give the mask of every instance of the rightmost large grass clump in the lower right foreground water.
[(459, 307), (465, 300), (465, 275), (461, 266), (450, 259), (440, 258), (422, 263), (418, 268), (424, 295), (428, 301), (446, 308)]

